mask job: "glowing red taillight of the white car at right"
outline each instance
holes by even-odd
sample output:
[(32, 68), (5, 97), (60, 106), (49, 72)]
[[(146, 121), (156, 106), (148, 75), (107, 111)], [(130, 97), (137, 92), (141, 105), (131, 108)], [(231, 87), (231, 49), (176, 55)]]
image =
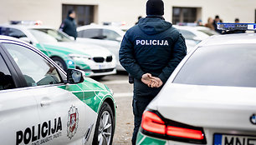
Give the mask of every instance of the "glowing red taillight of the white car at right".
[(186, 143), (205, 144), (202, 128), (192, 127), (180, 122), (166, 120), (158, 112), (143, 113), (141, 128), (143, 133), (158, 138), (165, 138)]

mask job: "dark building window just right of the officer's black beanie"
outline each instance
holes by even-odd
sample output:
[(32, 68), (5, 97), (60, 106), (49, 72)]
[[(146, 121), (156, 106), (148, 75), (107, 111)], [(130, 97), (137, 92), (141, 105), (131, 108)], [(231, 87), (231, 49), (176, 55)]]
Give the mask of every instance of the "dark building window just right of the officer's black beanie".
[(198, 7), (172, 7), (172, 23), (195, 23), (198, 17)]

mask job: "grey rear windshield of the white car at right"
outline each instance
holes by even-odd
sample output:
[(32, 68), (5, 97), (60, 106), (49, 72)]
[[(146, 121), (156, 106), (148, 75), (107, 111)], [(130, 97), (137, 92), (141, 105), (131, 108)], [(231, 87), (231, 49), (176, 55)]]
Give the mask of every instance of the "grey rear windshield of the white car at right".
[(174, 82), (256, 87), (256, 45), (199, 47), (178, 72)]

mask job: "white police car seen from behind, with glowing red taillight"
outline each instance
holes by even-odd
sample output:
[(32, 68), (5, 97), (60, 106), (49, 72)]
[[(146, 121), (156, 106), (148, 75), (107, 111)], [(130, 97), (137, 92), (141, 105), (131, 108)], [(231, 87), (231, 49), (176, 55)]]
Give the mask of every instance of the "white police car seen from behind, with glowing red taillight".
[[(236, 30), (256, 24), (220, 24)], [(256, 144), (256, 34), (209, 37), (143, 113), (137, 144)]]

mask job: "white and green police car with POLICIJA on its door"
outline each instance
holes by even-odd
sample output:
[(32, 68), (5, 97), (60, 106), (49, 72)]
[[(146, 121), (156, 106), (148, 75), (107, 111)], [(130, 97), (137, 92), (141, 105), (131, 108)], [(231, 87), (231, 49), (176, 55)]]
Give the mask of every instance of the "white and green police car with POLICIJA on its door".
[(0, 144), (106, 144), (115, 130), (110, 89), (37, 48), (0, 36)]

